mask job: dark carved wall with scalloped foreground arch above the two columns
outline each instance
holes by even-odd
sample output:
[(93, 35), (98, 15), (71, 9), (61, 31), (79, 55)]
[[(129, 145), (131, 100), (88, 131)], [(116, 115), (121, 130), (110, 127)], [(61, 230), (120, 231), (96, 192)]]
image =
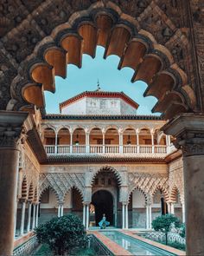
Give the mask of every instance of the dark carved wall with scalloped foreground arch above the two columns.
[(66, 77), (67, 64), (80, 68), (83, 53), (94, 57), (102, 45), (105, 57), (120, 57), (118, 69), (135, 70), (132, 82), (148, 83), (144, 95), (158, 99), (153, 111), (166, 118), (201, 111), (189, 20), (201, 24), (203, 9), (200, 1), (191, 2), (3, 0), (0, 109), (43, 108), (43, 91), (55, 90), (54, 75)]

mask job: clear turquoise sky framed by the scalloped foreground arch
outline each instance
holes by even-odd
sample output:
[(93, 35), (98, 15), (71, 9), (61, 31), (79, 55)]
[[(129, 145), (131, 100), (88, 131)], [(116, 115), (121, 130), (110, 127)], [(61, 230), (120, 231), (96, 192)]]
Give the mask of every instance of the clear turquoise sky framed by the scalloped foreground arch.
[(140, 81), (132, 83), (133, 69), (118, 70), (119, 57), (108, 56), (105, 60), (103, 55), (104, 48), (98, 46), (94, 59), (91, 56), (83, 55), (81, 69), (74, 65), (68, 65), (66, 79), (55, 76), (55, 93), (45, 92), (48, 114), (60, 113), (60, 102), (64, 102), (83, 91), (97, 89), (99, 79), (102, 90), (123, 91), (137, 102), (140, 105), (137, 109), (138, 115), (152, 115), (151, 108), (156, 104), (156, 98), (152, 96), (143, 97), (143, 92), (147, 87), (146, 83)]

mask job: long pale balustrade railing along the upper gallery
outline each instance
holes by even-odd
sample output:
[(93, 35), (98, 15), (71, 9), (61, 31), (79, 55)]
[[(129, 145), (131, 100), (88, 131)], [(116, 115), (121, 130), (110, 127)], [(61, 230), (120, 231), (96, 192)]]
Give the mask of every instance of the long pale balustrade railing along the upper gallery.
[(45, 145), (47, 154), (139, 154), (165, 156), (175, 150), (163, 145)]

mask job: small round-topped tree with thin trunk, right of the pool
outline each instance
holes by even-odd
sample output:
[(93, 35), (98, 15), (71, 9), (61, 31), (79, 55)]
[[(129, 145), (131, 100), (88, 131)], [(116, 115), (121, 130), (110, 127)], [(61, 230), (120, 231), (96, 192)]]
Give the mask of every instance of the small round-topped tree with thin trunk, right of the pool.
[(168, 233), (171, 231), (172, 227), (179, 228), (180, 226), (180, 220), (173, 214), (165, 214), (162, 216), (158, 216), (156, 217), (155, 220), (152, 221), (152, 227), (156, 231), (160, 231), (165, 234), (166, 245), (168, 245)]

